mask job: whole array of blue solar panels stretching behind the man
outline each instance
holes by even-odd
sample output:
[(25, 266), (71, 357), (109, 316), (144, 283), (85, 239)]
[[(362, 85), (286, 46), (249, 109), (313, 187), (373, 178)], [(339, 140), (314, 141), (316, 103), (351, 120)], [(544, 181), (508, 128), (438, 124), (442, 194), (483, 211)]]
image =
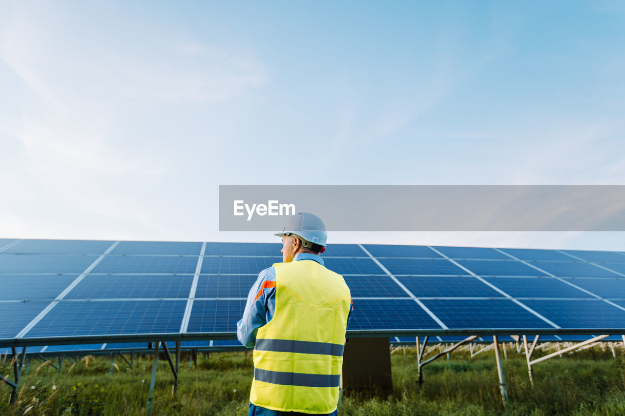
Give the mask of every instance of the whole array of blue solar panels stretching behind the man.
[[(234, 346), (210, 335), (236, 333), (249, 288), (282, 260), (280, 250), (0, 240), (0, 346), (100, 337), (93, 349), (106, 350), (106, 337), (132, 343), (146, 334), (202, 334), (194, 345)], [(351, 289), (351, 334), (625, 332), (625, 252), (334, 244), (322, 258)]]

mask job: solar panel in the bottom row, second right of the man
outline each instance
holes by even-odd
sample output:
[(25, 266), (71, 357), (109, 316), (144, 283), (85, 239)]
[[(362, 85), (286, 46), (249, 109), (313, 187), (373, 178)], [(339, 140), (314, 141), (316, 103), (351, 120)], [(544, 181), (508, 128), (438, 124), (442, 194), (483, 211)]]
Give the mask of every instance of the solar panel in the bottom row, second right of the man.
[(552, 328), (544, 320), (507, 299), (425, 299), (421, 302), (452, 329)]

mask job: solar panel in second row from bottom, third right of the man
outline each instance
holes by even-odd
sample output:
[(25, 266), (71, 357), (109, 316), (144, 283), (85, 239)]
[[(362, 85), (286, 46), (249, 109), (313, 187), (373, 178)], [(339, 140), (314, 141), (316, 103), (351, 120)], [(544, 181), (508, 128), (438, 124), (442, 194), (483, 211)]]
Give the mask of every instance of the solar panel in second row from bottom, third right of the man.
[(592, 297), (554, 277), (485, 277), (512, 297)]

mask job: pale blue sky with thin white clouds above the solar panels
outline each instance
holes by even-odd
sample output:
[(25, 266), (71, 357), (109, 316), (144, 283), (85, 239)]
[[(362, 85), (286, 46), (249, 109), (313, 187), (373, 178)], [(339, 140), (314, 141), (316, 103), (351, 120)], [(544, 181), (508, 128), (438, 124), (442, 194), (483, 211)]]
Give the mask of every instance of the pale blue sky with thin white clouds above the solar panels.
[(219, 185), (625, 185), (624, 44), (608, 0), (0, 0), (0, 238), (277, 239), (219, 232)]

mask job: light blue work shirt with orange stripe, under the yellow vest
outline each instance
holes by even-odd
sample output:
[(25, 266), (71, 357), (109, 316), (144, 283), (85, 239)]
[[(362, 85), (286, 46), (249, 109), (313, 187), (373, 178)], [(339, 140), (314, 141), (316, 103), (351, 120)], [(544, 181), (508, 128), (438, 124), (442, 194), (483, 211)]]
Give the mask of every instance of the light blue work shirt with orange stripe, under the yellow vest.
[[(314, 260), (323, 264), (323, 259), (315, 254), (297, 253), (293, 261), (297, 260)], [(254, 347), (256, 344), (256, 332), (271, 320), (276, 311), (276, 268), (271, 266), (262, 270), (258, 274), (258, 279), (252, 285), (252, 289), (247, 294), (247, 302), (243, 317), (236, 324), (237, 338), (241, 344), (248, 348)], [(347, 316), (347, 324), (354, 306), (349, 306), (349, 315)]]

